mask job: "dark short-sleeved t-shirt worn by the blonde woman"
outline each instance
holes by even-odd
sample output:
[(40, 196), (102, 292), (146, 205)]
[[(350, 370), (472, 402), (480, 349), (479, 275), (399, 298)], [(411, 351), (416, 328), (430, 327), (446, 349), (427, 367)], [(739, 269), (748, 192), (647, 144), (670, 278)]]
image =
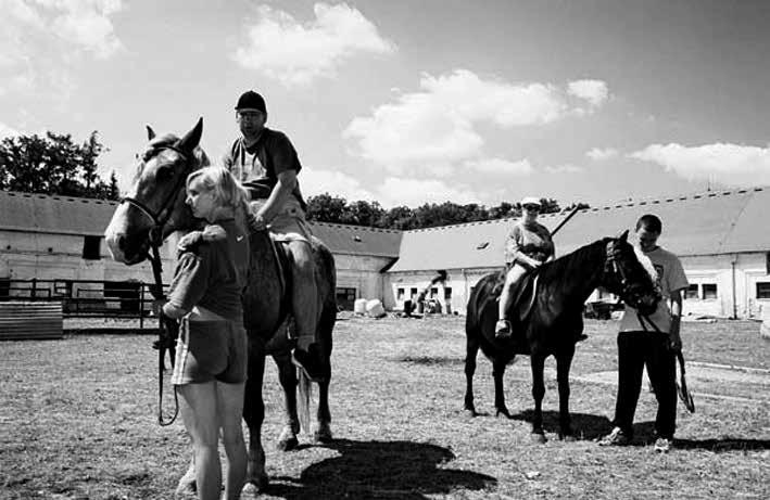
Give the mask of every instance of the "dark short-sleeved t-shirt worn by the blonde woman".
[(226, 239), (201, 243), (179, 256), (168, 302), (186, 311), (201, 306), (227, 320), (242, 321), (249, 235), (232, 219), (217, 225), (225, 230)]

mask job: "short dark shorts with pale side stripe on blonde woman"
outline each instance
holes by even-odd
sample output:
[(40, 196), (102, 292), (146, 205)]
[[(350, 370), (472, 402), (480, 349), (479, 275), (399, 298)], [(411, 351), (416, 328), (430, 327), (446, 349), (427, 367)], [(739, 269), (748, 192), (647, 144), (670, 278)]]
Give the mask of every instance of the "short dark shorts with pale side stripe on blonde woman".
[(238, 321), (190, 321), (179, 326), (172, 384), (245, 382), (249, 341)]

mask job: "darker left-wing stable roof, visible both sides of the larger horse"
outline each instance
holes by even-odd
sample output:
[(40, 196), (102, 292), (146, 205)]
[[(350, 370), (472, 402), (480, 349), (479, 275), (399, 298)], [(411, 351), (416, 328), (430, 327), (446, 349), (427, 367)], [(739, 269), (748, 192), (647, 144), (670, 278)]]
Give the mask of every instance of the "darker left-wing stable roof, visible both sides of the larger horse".
[[(0, 229), (101, 236), (117, 203), (0, 191)], [(401, 231), (310, 222), (332, 253), (396, 258)]]

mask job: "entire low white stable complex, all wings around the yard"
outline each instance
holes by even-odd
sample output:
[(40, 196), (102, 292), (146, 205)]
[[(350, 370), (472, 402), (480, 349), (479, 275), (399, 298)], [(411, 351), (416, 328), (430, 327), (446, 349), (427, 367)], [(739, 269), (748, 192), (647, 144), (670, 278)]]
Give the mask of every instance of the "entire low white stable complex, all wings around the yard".
[[(114, 262), (103, 231), (114, 202), (0, 192), (0, 295), (9, 280), (152, 281), (148, 264)], [(691, 287), (685, 312), (749, 318), (770, 306), (770, 190), (756, 188), (649, 200), (578, 213), (554, 238), (557, 256), (629, 229), (655, 214), (664, 223), (659, 243), (682, 259)], [(565, 215), (544, 215), (553, 229)], [(433, 294), (443, 310), (465, 312), (471, 287), (503, 266), (503, 246), (514, 219), (413, 231), (313, 222), (313, 232), (334, 254), (338, 302), (381, 298), (401, 309), (438, 270), (447, 272)], [(171, 280), (163, 248), (164, 281)], [(5, 283), (5, 285), (3, 285)], [(84, 285), (85, 286), (85, 285)], [(101, 286), (101, 284), (93, 285)], [(449, 307), (446, 307), (449, 306)]]

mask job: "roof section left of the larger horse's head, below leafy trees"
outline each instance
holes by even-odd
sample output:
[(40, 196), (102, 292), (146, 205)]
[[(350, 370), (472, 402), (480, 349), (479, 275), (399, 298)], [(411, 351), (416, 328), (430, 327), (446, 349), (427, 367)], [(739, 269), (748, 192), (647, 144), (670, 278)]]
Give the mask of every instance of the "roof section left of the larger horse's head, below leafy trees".
[(0, 229), (101, 236), (115, 202), (0, 191)]

